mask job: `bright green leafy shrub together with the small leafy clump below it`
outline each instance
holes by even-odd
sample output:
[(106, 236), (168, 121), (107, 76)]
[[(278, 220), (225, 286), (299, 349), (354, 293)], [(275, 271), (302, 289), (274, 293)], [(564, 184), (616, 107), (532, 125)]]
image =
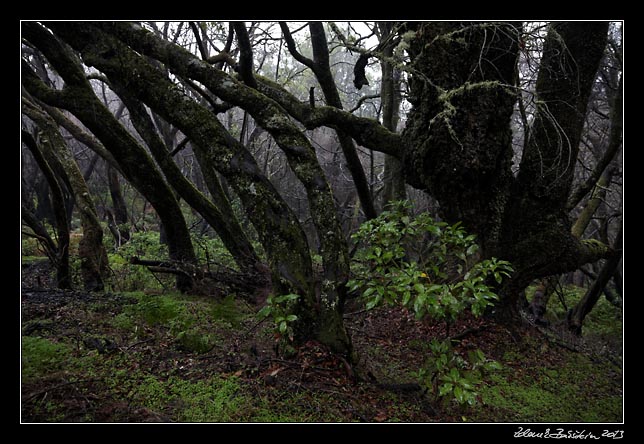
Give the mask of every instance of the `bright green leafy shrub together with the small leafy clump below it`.
[[(465, 310), (480, 316), (498, 299), (491, 282), (500, 284), (512, 272), (496, 258), (477, 260), (478, 245), (460, 224), (436, 222), (428, 213), (409, 216), (408, 202), (396, 202), (376, 219), (365, 222), (353, 238), (362, 244), (352, 264), (351, 291), (359, 291), (366, 308), (399, 304), (417, 319), (449, 324)], [(433, 341), (431, 356), (419, 380), (437, 397), (458, 404), (476, 402), (482, 372), (499, 368), (480, 350), (467, 360), (449, 340)]]

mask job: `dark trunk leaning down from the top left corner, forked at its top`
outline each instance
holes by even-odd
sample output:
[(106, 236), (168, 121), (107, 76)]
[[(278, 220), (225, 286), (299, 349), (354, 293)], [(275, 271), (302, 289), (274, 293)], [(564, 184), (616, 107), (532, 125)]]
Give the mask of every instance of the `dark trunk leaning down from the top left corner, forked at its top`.
[[(62, 23), (60, 25), (65, 26)], [(25, 22), (22, 30), (23, 37), (43, 52), (66, 82), (63, 90), (53, 90), (23, 62), (23, 86), (39, 100), (72, 112), (101, 140), (118, 161), (128, 181), (143, 194), (159, 215), (166, 230), (170, 257), (179, 262), (194, 264), (196, 257), (190, 233), (172, 189), (163, 180), (144, 148), (96, 97), (80, 60), (42, 26)], [(142, 171), (145, 174), (141, 174)], [(176, 282), (181, 291), (189, 290), (193, 284), (188, 275), (178, 275)]]

